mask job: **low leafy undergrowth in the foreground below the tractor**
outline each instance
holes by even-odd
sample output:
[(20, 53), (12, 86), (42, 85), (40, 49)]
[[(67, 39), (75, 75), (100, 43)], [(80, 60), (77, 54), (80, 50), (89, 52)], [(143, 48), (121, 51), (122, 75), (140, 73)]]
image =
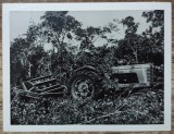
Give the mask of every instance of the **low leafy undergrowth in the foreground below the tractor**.
[(12, 124), (162, 124), (163, 89), (146, 88), (79, 102), (71, 97), (12, 101)]

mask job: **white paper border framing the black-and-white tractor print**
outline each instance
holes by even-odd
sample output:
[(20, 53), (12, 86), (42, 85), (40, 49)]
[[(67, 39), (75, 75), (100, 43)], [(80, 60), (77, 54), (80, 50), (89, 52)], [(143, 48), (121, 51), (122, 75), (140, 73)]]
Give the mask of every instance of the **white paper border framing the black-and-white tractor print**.
[[(3, 3), (3, 131), (5, 132), (127, 132), (171, 130), (172, 19), (170, 2), (104, 2), (104, 3)], [(125, 11), (164, 10), (164, 124), (139, 125), (11, 125), (10, 114), (10, 12), (11, 11)]]

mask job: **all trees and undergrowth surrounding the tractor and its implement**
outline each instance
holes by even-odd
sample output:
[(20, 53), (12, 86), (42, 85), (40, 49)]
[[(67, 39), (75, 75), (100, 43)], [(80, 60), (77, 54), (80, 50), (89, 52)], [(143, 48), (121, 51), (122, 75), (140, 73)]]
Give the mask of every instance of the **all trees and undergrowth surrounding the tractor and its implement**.
[[(36, 76), (51, 74), (65, 84), (72, 71), (85, 64), (96, 69), (102, 66), (104, 72), (121, 64), (153, 63), (163, 68), (164, 12), (144, 12), (142, 17), (151, 25), (141, 34), (137, 34), (139, 23), (133, 16), (120, 20), (119, 23), (126, 28), (124, 38), (116, 39), (108, 36), (120, 31), (115, 21), (103, 27), (83, 28), (83, 24), (69, 15), (67, 11), (46, 12), (40, 24), (28, 27), (26, 37), (15, 38), (11, 42), (12, 123), (162, 123), (162, 88), (126, 97), (107, 96), (83, 107), (71, 98), (26, 101), (13, 93), (14, 87), (20, 88), (21, 81)], [(104, 40), (103, 45), (95, 46), (98, 39)]]

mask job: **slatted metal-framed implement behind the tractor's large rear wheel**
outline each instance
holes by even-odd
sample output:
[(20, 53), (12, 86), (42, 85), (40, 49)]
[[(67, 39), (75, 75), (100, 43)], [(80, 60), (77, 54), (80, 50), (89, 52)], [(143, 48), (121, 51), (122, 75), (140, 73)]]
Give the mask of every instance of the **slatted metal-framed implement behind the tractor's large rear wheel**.
[(67, 88), (54, 78), (52, 75), (36, 77), (21, 82), (23, 89), (15, 89), (15, 93), (32, 98), (41, 96), (54, 96), (66, 93)]

